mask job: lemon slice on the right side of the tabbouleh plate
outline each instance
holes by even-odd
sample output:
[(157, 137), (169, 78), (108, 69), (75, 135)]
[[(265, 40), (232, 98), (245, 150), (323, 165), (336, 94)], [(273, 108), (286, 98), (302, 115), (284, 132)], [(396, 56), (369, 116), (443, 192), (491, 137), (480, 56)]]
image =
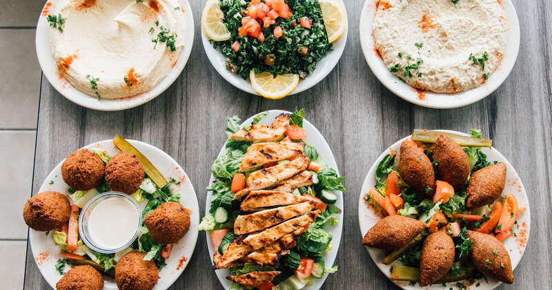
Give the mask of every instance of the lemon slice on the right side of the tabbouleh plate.
[(322, 18), (324, 26), (326, 26), (326, 34), (328, 42), (332, 43), (341, 37), (347, 26), (347, 14), (342, 3), (335, 0), (319, 0), (320, 9), (322, 10)]

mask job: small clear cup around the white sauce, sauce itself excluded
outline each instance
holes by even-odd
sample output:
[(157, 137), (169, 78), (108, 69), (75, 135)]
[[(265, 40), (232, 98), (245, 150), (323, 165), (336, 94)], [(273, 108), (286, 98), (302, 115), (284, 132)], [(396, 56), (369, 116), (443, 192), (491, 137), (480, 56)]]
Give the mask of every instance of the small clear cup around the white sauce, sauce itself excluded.
[[(104, 200), (108, 200), (110, 198), (128, 200), (133, 206), (135, 206), (136, 212), (137, 212), (136, 233), (134, 234), (132, 239), (126, 242), (126, 244), (116, 249), (105, 249), (104, 247), (101, 247), (98, 244), (95, 244), (94, 239), (90, 237), (90, 233), (88, 232), (88, 219), (90, 218), (90, 213), (92, 213), (92, 210), (95, 209), (95, 207), (100, 202), (103, 202)], [(117, 222), (117, 221), (114, 220), (113, 222)], [(138, 237), (138, 233), (140, 231), (141, 225), (142, 225), (142, 213), (141, 213), (140, 206), (132, 197), (130, 197), (130, 195), (125, 193), (119, 193), (117, 191), (107, 191), (105, 193), (100, 193), (99, 195), (92, 197), (92, 199), (89, 200), (86, 203), (86, 205), (83, 207), (81, 214), (79, 215), (79, 235), (81, 236), (81, 239), (83, 243), (86, 244), (86, 246), (88, 246), (90, 249), (94, 251), (97, 251), (98, 253), (116, 253), (118, 251), (126, 249)]]

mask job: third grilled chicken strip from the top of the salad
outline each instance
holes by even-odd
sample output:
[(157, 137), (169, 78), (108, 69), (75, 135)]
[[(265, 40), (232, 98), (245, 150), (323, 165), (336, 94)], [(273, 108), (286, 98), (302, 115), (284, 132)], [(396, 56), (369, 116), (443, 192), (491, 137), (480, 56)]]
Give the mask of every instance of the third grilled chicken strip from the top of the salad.
[(259, 189), (266, 189), (267, 187), (274, 186), (278, 182), (287, 180), (293, 175), (304, 171), (308, 166), (308, 157), (301, 156), (291, 162), (278, 164), (269, 168), (262, 168), (259, 171), (251, 173), (246, 181), (246, 188), (242, 191), (238, 191), (234, 195), (234, 199), (238, 200), (242, 198), (250, 191), (257, 191)]

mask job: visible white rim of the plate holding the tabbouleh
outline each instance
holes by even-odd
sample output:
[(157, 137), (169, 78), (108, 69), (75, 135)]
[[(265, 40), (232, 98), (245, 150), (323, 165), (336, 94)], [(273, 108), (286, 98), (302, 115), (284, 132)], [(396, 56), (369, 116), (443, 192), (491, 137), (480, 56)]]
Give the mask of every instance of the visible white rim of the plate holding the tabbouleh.
[[(343, 7), (345, 7), (343, 0), (337, 1), (339, 1), (339, 3), (342, 3)], [(324, 79), (324, 77), (326, 77), (326, 75), (328, 75), (333, 70), (333, 68), (337, 64), (337, 61), (339, 61), (339, 58), (341, 58), (341, 55), (345, 48), (345, 43), (347, 41), (347, 32), (348, 21), (343, 35), (332, 43), (333, 50), (325, 57), (322, 57), (320, 61), (318, 61), (315, 70), (310, 75), (305, 77), (305, 79), (299, 80), (297, 88), (295, 88), (295, 90), (293, 90), (293, 92), (291, 92), (289, 95), (301, 93), (304, 90), (312, 88), (320, 81), (322, 81), (322, 79)], [(224, 77), (226, 81), (228, 81), (236, 88), (239, 88), (246, 93), (259, 95), (259, 93), (257, 93), (253, 89), (253, 86), (251, 86), (251, 81), (249, 80), (249, 77), (247, 79), (243, 79), (241, 76), (233, 74), (232, 72), (230, 72), (230, 70), (226, 68), (226, 56), (222, 53), (220, 48), (213, 48), (213, 45), (209, 43), (209, 37), (205, 35), (205, 32), (203, 32), (203, 30), (201, 30), (201, 42), (203, 43), (203, 48), (205, 49), (205, 53), (207, 54), (209, 61), (211, 62), (211, 64), (213, 64), (215, 70), (219, 72), (219, 75)]]

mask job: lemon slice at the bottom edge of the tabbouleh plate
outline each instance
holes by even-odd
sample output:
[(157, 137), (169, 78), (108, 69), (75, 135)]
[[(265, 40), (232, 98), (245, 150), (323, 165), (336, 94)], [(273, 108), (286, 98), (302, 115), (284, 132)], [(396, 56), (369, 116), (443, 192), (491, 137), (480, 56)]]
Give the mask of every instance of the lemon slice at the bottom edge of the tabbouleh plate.
[(282, 99), (293, 92), (299, 84), (299, 75), (293, 74), (273, 77), (270, 72), (255, 73), (251, 70), (249, 79), (257, 93), (267, 99)]

